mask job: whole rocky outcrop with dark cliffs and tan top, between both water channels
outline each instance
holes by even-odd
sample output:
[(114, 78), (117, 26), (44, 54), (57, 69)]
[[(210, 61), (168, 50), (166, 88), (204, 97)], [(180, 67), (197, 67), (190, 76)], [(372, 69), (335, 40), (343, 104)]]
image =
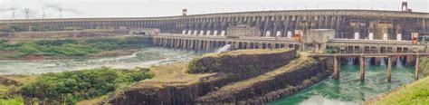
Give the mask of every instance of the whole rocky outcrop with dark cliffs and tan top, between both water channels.
[[(300, 85), (317, 82), (329, 74), (326, 73), (325, 62), (293, 60), (295, 51), (238, 52), (241, 54), (205, 56), (191, 62), (189, 67), (182, 64), (152, 69), (167, 73), (156, 73), (153, 80), (140, 81), (103, 102), (172, 105), (262, 103), (280, 97), (284, 89), (304, 88), (306, 86)], [(186, 73), (192, 66), (200, 70)]]

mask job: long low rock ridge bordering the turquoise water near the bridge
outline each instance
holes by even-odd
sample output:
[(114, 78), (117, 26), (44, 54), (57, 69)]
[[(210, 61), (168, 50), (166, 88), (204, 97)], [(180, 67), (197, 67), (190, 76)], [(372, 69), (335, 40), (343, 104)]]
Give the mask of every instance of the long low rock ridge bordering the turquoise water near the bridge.
[[(198, 103), (265, 103), (300, 91), (329, 76), (330, 61), (305, 61), (279, 68), (262, 76), (234, 82), (196, 99)], [(287, 65), (293, 66), (293, 65)]]

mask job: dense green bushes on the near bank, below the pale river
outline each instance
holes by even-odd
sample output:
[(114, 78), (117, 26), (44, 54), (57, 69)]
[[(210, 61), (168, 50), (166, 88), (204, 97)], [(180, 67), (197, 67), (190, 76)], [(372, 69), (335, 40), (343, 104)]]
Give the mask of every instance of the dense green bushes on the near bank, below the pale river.
[(50, 103), (89, 100), (106, 95), (129, 84), (152, 78), (148, 69), (128, 71), (102, 67), (93, 70), (46, 73), (24, 84), (21, 94)]

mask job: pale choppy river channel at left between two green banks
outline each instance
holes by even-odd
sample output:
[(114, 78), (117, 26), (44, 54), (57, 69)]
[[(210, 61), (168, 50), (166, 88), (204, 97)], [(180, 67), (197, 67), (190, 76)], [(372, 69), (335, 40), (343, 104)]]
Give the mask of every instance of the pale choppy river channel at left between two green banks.
[(77, 60), (0, 61), (0, 74), (65, 72), (109, 66), (120, 69), (150, 67), (171, 62), (189, 61), (201, 53), (165, 48), (142, 48), (131, 55)]

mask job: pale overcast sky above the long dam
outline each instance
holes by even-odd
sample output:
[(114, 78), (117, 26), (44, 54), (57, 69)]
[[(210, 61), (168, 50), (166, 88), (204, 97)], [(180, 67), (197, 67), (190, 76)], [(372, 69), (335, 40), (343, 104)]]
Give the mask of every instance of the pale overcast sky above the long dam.
[(399, 11), (403, 1), (414, 12), (429, 13), (429, 0), (0, 0), (0, 19), (154, 17), (267, 10), (367, 9)]

